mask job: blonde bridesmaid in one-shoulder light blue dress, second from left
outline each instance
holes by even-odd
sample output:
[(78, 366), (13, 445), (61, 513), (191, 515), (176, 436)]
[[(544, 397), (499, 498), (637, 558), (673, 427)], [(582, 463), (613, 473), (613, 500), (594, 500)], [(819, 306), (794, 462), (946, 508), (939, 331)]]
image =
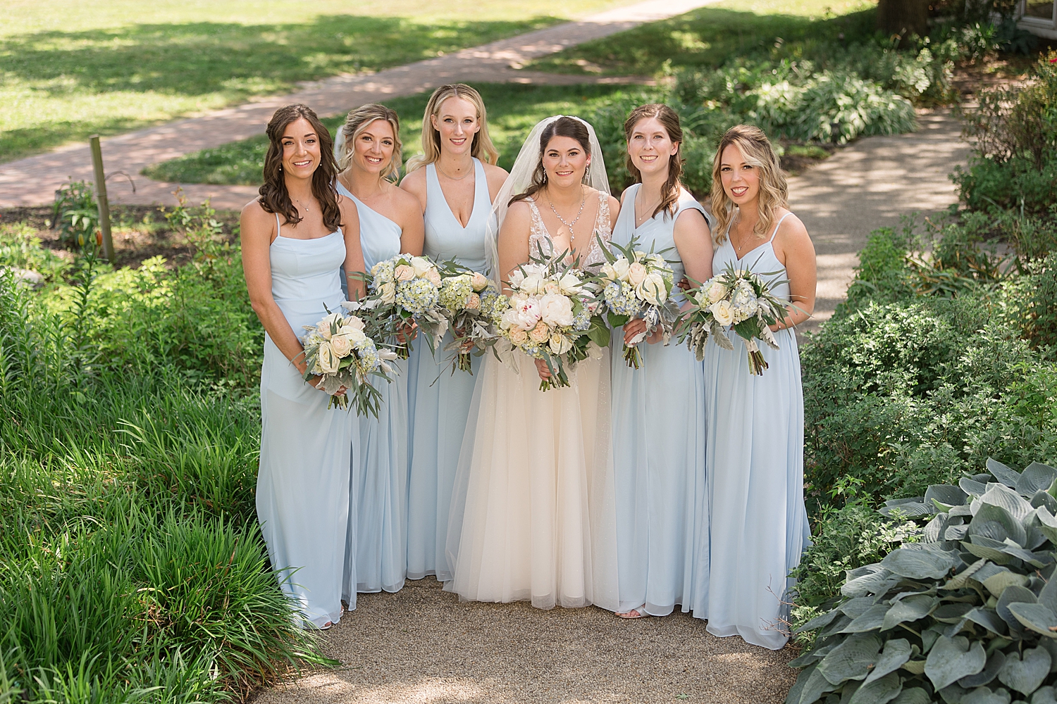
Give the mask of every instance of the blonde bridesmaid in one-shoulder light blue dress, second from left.
[[(363, 106), (349, 113), (342, 134), (337, 191), (356, 205), (367, 269), (400, 253), (421, 254), (419, 203), (395, 184), (401, 166), (396, 113)], [(378, 417), (358, 419), (342, 586), (350, 609), (356, 592), (398, 591), (407, 574), (408, 375), (406, 362), (395, 365), (392, 383), (381, 386)]]

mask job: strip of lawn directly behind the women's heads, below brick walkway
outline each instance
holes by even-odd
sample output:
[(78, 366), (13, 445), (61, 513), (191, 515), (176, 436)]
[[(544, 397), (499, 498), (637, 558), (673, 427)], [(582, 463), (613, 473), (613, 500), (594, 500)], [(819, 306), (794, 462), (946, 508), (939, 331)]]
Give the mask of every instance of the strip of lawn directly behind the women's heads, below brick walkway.
[[(512, 83), (477, 87), (488, 107), (488, 131), (500, 151), (500, 166), (509, 169), (528, 130), (538, 120), (558, 113), (590, 113), (595, 106), (627, 87), (614, 85), (521, 85)], [(634, 90), (634, 89), (632, 89)], [(401, 116), (401, 139), (405, 159), (422, 151), (419, 147), (422, 113), (428, 94), (387, 100)], [(344, 117), (324, 119), (331, 132)], [(193, 152), (145, 170), (159, 180), (192, 184), (260, 184), (267, 139), (263, 135), (233, 141), (216, 149)]]

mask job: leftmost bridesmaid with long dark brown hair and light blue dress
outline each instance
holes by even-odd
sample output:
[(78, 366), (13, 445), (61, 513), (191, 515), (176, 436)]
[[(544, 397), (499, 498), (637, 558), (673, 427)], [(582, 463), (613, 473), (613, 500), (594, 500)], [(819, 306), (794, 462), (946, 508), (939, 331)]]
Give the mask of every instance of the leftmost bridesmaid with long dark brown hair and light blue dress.
[[(303, 380), (298, 336), (344, 300), (339, 267), (364, 268), (359, 218), (331, 186), (330, 133), (312, 110), (280, 108), (267, 136), (264, 185), (241, 220), (246, 287), (265, 330), (257, 517), (305, 627), (330, 628), (341, 615), (355, 417), (327, 408), (319, 377)], [(363, 283), (349, 287), (358, 293)]]

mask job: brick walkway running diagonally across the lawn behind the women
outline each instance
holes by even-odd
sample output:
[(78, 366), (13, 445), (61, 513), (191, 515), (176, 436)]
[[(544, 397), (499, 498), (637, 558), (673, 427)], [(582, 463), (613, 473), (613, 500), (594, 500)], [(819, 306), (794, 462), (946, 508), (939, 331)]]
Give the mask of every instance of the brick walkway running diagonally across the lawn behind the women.
[[(372, 75), (335, 76), (305, 83), (292, 95), (263, 98), (203, 117), (109, 137), (103, 140), (107, 172), (125, 171), (131, 174), (135, 179), (136, 192), (132, 192), (126, 179), (110, 178), (107, 182), (108, 193), (113, 203), (172, 204), (171, 193), (177, 184), (147, 178), (140, 173), (144, 167), (261, 134), (276, 108), (290, 102), (304, 102), (319, 115), (328, 116), (347, 112), (365, 102), (411, 95), (455, 81), (551, 84), (642, 82), (646, 79), (632, 77), (592, 80), (582, 76), (515, 71), (512, 64), (519, 65), (585, 41), (624, 32), (644, 22), (681, 15), (712, 2), (717, 0), (648, 0), (435, 59)], [(92, 159), (87, 145), (71, 146), (0, 165), (0, 208), (50, 204), (54, 199), (55, 189), (71, 176), (75, 179), (92, 179)], [(214, 207), (218, 209), (241, 208), (257, 193), (256, 187), (252, 186), (193, 184), (184, 185), (183, 188), (191, 203), (210, 197)]]

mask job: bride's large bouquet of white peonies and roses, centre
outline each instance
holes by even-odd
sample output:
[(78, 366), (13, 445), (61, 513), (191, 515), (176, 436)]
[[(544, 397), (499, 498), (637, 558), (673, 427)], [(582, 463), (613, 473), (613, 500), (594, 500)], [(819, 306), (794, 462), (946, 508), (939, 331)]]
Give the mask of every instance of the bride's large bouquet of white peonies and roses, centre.
[(590, 355), (593, 341), (609, 344), (609, 328), (601, 320), (601, 303), (581, 279), (565, 252), (552, 258), (533, 256), (511, 274), (509, 307), (499, 317), (499, 331), (528, 357), (543, 360), (551, 378), (540, 391), (569, 386), (565, 367)]

